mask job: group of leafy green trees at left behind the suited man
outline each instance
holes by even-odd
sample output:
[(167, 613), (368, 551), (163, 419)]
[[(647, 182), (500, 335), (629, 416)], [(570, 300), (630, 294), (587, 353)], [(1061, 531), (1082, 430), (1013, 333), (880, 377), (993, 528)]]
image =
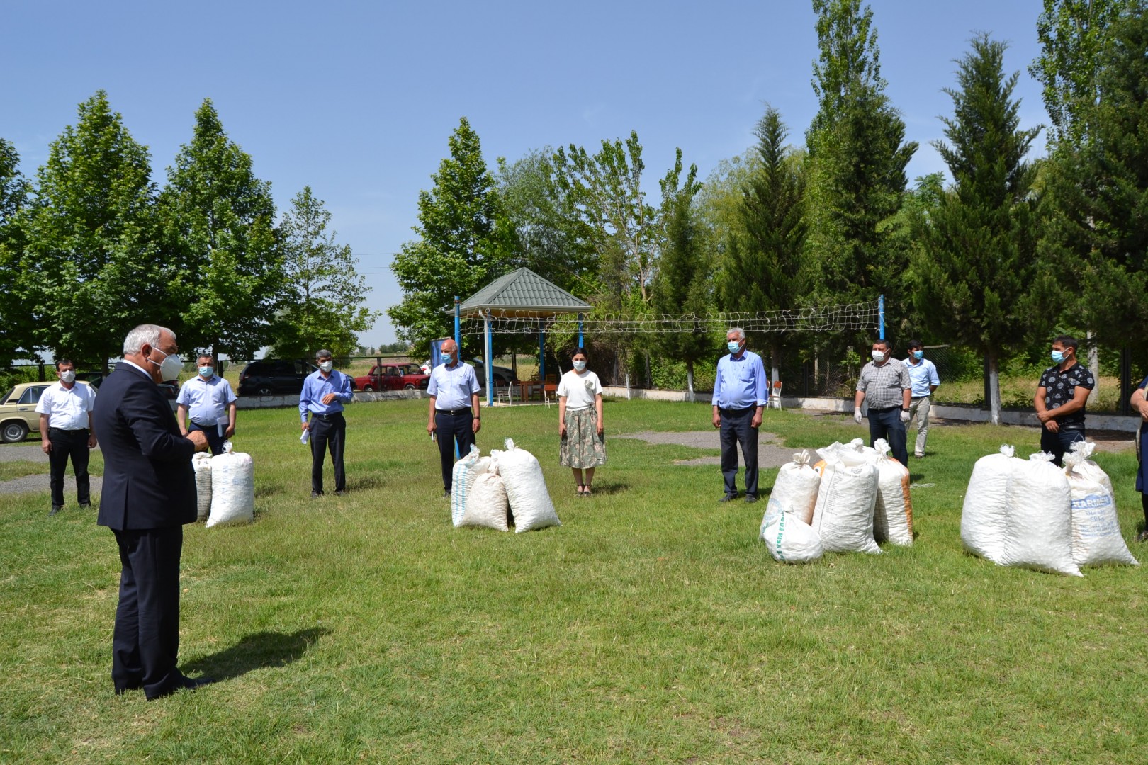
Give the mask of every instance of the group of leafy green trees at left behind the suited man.
[(276, 220), (271, 185), (214, 104), (195, 112), (160, 188), (107, 93), (79, 104), (34, 178), (0, 138), (0, 358), (106, 368), (147, 320), (186, 350), (349, 356), (377, 312), (310, 187)]

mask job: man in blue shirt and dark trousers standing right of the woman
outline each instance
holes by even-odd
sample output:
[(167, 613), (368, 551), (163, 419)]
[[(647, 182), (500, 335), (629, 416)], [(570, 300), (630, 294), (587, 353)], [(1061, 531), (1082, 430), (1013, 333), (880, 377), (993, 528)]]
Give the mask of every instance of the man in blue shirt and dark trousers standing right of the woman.
[(729, 356), (718, 360), (714, 380), (714, 428), (721, 429), (721, 474), (726, 494), (719, 500), (737, 499), (737, 445), (745, 460), (745, 501), (758, 501), (758, 428), (769, 400), (769, 381), (761, 357), (745, 350), (745, 330), (734, 327), (726, 333)]

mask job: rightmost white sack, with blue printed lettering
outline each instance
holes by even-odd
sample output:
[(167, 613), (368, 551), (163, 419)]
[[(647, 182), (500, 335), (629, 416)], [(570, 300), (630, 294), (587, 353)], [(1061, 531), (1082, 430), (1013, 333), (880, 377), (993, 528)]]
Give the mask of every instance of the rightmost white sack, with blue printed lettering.
[(1120, 534), (1112, 482), (1088, 459), (1094, 446), (1077, 442), (1064, 455), (1064, 477), (1072, 497), (1072, 561), (1077, 565), (1139, 565)]

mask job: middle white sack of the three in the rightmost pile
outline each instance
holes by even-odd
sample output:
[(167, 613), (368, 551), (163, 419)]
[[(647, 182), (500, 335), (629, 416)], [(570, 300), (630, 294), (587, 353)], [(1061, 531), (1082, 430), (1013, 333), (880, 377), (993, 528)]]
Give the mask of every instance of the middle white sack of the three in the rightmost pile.
[(1004, 487), (1008, 516), (1002, 565), (1084, 576), (1072, 560), (1072, 492), (1053, 455), (1038, 452), (1013, 468)]

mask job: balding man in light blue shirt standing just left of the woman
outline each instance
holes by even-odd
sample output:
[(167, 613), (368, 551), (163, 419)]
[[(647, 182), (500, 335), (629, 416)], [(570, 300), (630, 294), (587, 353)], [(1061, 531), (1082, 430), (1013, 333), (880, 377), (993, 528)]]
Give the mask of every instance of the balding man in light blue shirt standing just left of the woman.
[(450, 497), (455, 443), (458, 443), (458, 453), (466, 456), (474, 444), (474, 435), (482, 428), (482, 417), (479, 415), (479, 378), (474, 367), (459, 360), (458, 345), (452, 339), (444, 339), (440, 351), (445, 360), (430, 370), (427, 383), (430, 397), (427, 432), (439, 439), (442, 495)]

